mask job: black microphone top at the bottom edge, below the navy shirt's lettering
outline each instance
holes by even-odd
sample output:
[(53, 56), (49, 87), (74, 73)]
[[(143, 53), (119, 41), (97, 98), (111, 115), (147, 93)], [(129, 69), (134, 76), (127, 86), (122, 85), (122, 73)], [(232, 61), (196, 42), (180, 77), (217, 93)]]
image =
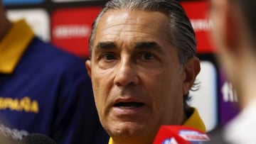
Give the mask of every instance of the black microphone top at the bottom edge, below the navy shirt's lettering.
[(31, 133), (26, 135), (18, 144), (57, 144), (53, 139), (41, 133)]

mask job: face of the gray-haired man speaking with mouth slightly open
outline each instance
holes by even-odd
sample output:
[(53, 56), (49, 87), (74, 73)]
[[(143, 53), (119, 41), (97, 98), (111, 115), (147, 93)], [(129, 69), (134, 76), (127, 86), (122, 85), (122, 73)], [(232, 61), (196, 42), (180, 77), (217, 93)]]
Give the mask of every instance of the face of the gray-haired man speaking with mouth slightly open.
[(154, 138), (183, 122), (184, 72), (159, 12), (112, 10), (100, 19), (87, 61), (102, 126), (114, 137)]

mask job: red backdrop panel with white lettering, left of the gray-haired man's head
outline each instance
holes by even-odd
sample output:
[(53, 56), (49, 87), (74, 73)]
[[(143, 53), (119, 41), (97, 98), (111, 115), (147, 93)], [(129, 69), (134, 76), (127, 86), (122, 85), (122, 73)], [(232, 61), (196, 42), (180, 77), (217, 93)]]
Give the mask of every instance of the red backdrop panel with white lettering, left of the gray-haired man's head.
[(51, 17), (51, 42), (78, 57), (89, 57), (92, 22), (101, 7), (58, 9)]

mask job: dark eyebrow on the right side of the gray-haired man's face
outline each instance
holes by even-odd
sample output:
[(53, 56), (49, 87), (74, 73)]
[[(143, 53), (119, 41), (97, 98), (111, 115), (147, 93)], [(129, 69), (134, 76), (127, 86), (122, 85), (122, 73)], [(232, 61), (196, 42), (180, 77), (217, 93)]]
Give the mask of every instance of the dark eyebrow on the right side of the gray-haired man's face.
[(134, 48), (135, 49), (156, 50), (157, 52), (164, 53), (164, 50), (156, 42), (138, 42), (138, 43), (135, 43)]

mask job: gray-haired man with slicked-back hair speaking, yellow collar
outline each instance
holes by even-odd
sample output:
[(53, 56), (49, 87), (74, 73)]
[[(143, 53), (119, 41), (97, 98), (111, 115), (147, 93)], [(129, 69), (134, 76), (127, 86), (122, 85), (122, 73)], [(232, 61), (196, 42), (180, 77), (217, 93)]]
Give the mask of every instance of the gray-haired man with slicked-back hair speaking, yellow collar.
[(205, 131), (188, 91), (200, 71), (196, 39), (174, 0), (111, 0), (92, 26), (95, 104), (109, 143), (152, 143), (161, 125)]

